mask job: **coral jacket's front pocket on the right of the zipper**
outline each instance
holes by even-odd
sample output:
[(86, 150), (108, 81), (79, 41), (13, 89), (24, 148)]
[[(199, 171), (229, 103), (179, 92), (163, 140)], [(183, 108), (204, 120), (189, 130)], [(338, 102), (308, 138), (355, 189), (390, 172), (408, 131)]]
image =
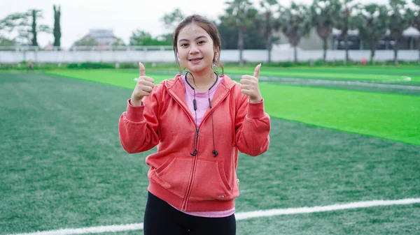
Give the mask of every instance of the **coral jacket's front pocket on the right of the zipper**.
[(232, 199), (232, 188), (226, 178), (223, 162), (200, 159), (197, 161), (190, 199), (194, 201)]

